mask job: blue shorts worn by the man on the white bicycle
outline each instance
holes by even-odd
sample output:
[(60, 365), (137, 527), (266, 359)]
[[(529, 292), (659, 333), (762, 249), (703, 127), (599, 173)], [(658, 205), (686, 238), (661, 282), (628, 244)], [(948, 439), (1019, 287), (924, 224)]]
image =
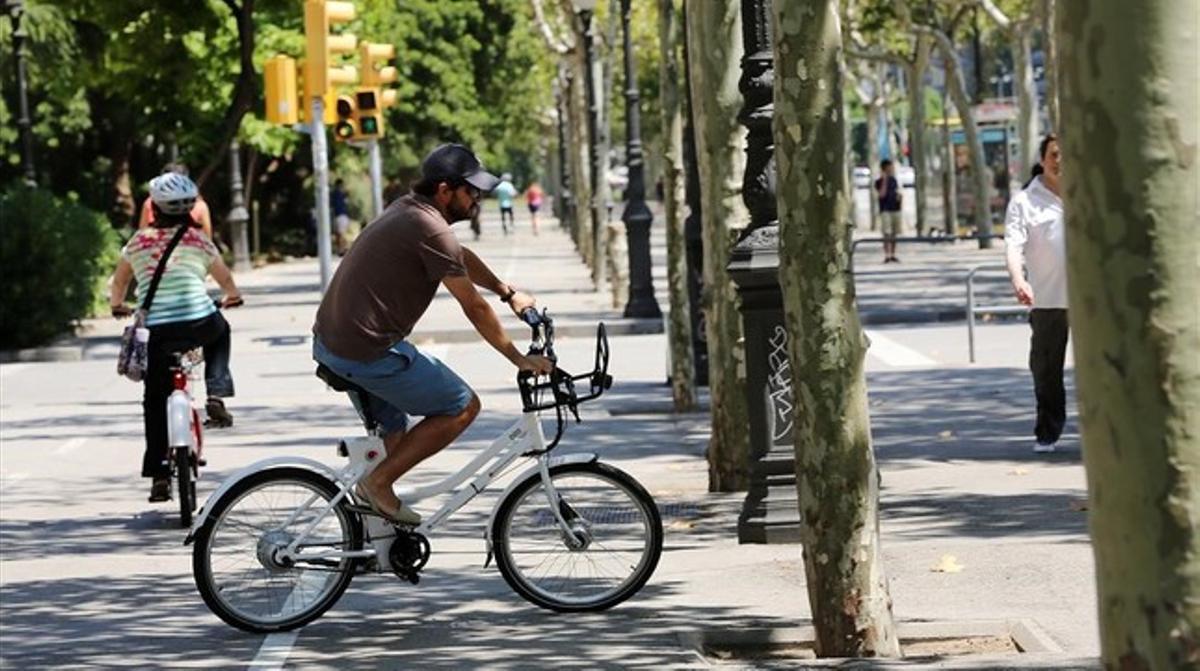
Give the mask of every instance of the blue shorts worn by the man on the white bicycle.
[[(408, 427), (408, 415), (456, 415), (474, 393), (454, 371), (412, 343), (400, 341), (374, 361), (342, 359), (313, 337), (312, 358), (366, 389), (371, 414), (386, 433)], [(362, 408), (356, 407), (359, 414)]]

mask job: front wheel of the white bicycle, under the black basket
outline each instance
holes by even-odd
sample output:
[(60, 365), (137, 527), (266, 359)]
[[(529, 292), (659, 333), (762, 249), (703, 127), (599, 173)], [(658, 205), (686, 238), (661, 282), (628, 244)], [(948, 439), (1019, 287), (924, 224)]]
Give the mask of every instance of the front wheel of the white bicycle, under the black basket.
[[(600, 462), (556, 466), (550, 475), (564, 519), (586, 529), (588, 543), (568, 546), (541, 478), (530, 478), (504, 498), (492, 526), (504, 580), (522, 598), (558, 612), (602, 611), (636, 594), (662, 553), (654, 499), (637, 480)], [(589, 570), (576, 571), (578, 565)], [(610, 568), (614, 575), (599, 575)]]

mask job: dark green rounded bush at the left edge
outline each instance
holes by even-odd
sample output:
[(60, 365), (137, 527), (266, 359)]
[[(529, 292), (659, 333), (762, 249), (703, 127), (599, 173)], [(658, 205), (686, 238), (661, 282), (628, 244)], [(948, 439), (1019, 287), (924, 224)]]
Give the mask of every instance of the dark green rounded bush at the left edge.
[(0, 192), (0, 348), (42, 345), (95, 308), (116, 233), (103, 215), (23, 184)]

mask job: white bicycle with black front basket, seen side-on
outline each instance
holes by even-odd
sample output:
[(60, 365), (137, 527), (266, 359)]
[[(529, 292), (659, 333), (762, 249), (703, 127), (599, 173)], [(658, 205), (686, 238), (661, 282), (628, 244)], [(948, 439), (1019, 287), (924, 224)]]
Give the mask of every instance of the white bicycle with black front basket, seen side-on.
[[(523, 317), (533, 328), (530, 353), (553, 360), (553, 322), (533, 310)], [(632, 597), (662, 553), (654, 499), (595, 454), (552, 456), (566, 413), (578, 421), (578, 405), (612, 384), (607, 369), (608, 340), (600, 324), (592, 372), (520, 375), (520, 420), (457, 473), (401, 489), (406, 503), (451, 495), (416, 527), (395, 526), (366, 502), (354, 501), (355, 483), (385, 455), (370, 405), (356, 402), (368, 435), (338, 444), (347, 466), (335, 471), (304, 457), (268, 459), (239, 471), (209, 497), (185, 540), (194, 540), (192, 570), (204, 603), (233, 627), (270, 633), (320, 617), (358, 573), (391, 570), (416, 585), (430, 558), (426, 537), (522, 457), (534, 463), (492, 509), (484, 565), (496, 557), (517, 594), (553, 611), (601, 611)], [(317, 375), (352, 397), (366, 394), (324, 366)], [(540, 417), (545, 411), (557, 420), (548, 442)]]

